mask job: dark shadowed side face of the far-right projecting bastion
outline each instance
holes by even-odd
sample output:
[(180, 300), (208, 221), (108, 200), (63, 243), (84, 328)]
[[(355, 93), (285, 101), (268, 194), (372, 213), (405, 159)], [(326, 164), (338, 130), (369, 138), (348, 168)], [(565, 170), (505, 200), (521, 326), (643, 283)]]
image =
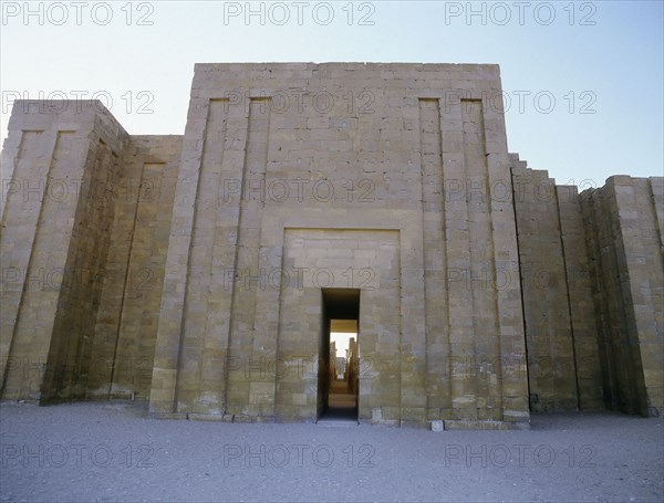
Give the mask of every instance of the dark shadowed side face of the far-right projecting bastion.
[[(630, 199), (633, 202), (632, 191), (629, 177), (612, 177), (601, 189), (583, 192), (581, 208), (599, 328), (604, 400), (611, 408), (646, 415), (647, 397), (632, 283), (643, 281), (644, 276), (640, 266), (630, 268), (631, 261), (645, 262), (645, 258), (636, 250), (642, 243), (625, 243), (625, 239), (640, 239), (636, 235), (639, 212), (625, 206)], [(623, 219), (630, 229), (626, 233)], [(632, 252), (627, 253), (627, 249)]]

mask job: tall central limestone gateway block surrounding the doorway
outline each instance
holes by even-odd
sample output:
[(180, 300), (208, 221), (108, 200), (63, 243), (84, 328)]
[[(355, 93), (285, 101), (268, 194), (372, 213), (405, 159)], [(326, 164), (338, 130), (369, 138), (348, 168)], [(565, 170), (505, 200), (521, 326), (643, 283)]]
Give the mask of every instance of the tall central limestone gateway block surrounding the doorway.
[(328, 283), (270, 284), (298, 263), (361, 290), (360, 355), (382, 366), (360, 376), (363, 418), (527, 421), (513, 206), (490, 195), (511, 192), (499, 90), (495, 65), (196, 65), (151, 411), (315, 418), (313, 375), (273, 370), (319, 343)]

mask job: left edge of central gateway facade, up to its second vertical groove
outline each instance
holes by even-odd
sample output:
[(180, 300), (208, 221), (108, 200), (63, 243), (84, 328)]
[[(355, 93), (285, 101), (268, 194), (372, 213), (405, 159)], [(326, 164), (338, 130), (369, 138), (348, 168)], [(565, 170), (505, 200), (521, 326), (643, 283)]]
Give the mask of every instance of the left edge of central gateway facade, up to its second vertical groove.
[[(194, 88), (204, 85), (195, 81)], [(229, 99), (191, 99), (155, 352), (156, 415), (221, 417), (226, 409), (247, 124), (246, 108)]]

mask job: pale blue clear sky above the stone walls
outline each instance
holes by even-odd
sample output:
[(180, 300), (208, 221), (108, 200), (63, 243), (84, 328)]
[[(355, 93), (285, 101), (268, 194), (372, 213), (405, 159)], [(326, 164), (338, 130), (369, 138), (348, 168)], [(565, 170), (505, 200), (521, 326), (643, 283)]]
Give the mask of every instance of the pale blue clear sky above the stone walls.
[(1, 3), (2, 137), (40, 93), (183, 134), (197, 62), (498, 63), (531, 168), (585, 187), (663, 174), (662, 1)]

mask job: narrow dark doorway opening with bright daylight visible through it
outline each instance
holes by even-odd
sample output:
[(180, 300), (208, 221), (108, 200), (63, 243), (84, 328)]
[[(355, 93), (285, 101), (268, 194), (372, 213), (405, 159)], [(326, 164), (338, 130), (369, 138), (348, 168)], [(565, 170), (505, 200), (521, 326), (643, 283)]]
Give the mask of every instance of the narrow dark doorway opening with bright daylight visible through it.
[(323, 289), (318, 419), (357, 421), (360, 290)]

